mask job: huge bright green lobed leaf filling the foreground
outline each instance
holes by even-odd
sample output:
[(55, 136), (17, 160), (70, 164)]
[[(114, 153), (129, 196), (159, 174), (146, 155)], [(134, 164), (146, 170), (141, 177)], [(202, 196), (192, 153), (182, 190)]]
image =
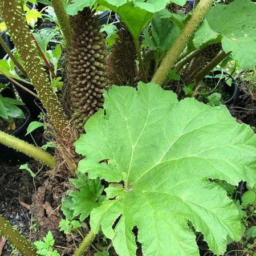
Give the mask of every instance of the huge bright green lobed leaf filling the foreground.
[[(192, 223), (211, 250), (223, 254), (227, 238), (243, 234), (239, 211), (209, 179), (237, 185), (256, 181), (256, 136), (224, 106), (194, 99), (180, 102), (156, 84), (113, 86), (86, 123), (76, 151), (79, 171), (111, 185), (107, 200), (92, 210), (91, 227), (113, 240), (120, 256), (198, 256)], [(123, 191), (123, 192), (122, 192)], [(115, 195), (115, 197), (114, 197)], [(115, 224), (115, 226), (113, 226)]]

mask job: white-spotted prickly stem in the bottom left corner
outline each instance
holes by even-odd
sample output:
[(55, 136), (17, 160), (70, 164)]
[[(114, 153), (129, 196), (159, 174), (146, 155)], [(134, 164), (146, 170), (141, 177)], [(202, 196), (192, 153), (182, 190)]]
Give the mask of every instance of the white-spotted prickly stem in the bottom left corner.
[(13, 226), (0, 214), (0, 235), (3, 235), (11, 245), (15, 246), (23, 256), (38, 256), (35, 248), (25, 237), (22, 237)]

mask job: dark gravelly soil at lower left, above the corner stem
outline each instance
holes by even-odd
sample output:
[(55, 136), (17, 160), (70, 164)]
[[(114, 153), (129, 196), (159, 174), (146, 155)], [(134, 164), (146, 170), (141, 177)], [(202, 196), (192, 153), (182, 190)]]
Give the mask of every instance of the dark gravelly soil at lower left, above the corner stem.
[[(27, 170), (20, 170), (20, 165), (11, 165), (10, 162), (0, 162), (0, 214), (10, 221), (25, 237), (32, 239), (33, 217), (29, 211), (31, 196), (35, 187), (31, 175)], [(37, 167), (34, 161), (29, 165), (33, 170)], [(8, 242), (3, 246), (1, 256), (9, 256), (13, 248)]]

